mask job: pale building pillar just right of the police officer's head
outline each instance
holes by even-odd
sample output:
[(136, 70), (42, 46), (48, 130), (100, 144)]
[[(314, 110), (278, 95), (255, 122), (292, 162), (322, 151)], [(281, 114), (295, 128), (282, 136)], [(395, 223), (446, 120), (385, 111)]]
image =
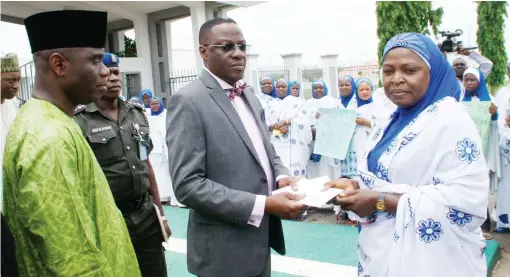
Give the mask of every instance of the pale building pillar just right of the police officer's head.
[[(154, 92), (154, 82), (151, 64), (151, 49), (149, 44), (149, 28), (147, 17), (139, 17), (133, 21), (135, 27), (136, 53), (143, 64), (140, 70), (142, 89), (150, 89)], [(159, 90), (158, 90), (159, 91)]]

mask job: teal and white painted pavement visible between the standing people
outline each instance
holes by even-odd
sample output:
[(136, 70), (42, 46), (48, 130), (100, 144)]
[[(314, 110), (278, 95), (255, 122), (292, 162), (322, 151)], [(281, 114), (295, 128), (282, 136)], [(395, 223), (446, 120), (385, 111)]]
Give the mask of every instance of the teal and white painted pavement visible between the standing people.
[[(165, 207), (165, 214), (173, 231), (166, 255), (168, 276), (193, 276), (187, 272), (185, 255), (188, 210)], [(343, 226), (333, 211), (326, 210), (309, 213), (305, 221), (283, 221), (287, 255), (273, 253), (272, 276), (357, 276), (357, 228)], [(331, 236), (327, 234), (335, 234), (338, 239), (331, 243)], [(492, 235), (503, 249), (492, 277), (510, 277), (510, 234)]]

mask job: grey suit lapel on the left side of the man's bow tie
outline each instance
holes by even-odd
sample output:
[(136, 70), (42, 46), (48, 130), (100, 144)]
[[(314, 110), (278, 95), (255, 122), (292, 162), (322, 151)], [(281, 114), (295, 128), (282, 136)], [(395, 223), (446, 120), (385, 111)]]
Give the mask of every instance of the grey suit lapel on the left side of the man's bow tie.
[(246, 128), (244, 127), (239, 114), (235, 110), (234, 105), (232, 105), (228, 99), (225, 91), (220, 87), (214, 77), (211, 76), (207, 71), (202, 71), (200, 78), (204, 81), (204, 84), (211, 89), (211, 97), (216, 102), (216, 104), (218, 104), (223, 113), (225, 113), (228, 120), (230, 123), (232, 123), (234, 129), (237, 131), (246, 147), (248, 147), (248, 150), (250, 150), (255, 160), (257, 160), (259, 165), (262, 167), (262, 163), (260, 162), (259, 156), (257, 155), (257, 151), (255, 151), (255, 147), (253, 146), (250, 136), (248, 135), (248, 132), (246, 131)]

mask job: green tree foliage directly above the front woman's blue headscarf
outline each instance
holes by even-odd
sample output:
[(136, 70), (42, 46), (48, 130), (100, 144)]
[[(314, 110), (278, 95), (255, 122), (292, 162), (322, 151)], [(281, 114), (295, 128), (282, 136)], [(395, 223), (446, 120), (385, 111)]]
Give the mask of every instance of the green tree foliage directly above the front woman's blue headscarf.
[(443, 8), (433, 9), (430, 1), (378, 1), (376, 14), (379, 37), (377, 57), (381, 61), (384, 46), (397, 34), (406, 32), (430, 34), (431, 26), (434, 35), (437, 35)]

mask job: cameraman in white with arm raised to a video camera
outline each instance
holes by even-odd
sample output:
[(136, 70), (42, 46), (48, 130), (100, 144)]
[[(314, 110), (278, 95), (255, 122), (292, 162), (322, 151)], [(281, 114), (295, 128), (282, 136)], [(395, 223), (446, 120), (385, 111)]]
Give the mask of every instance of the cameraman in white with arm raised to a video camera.
[[(478, 63), (480, 65), (479, 66), (480, 71), (482, 71), (483, 76), (485, 78), (487, 78), (487, 76), (489, 76), (489, 73), (492, 71), (492, 65), (493, 65), (492, 61), (490, 61), (486, 57), (478, 54), (476, 51), (469, 51), (469, 50), (463, 49), (462, 47), (459, 47), (457, 49), (457, 54), (467, 56), (467, 57), (471, 58), (473, 61), (475, 61), (476, 63)], [(462, 101), (462, 99), (464, 99), (464, 93), (466, 91), (462, 80), (463, 80), (463, 76), (464, 76), (464, 71), (466, 71), (466, 69), (468, 69), (467, 61), (462, 57), (458, 57), (455, 60), (453, 60), (452, 67), (453, 67), (453, 69), (455, 69), (455, 73), (457, 75), (457, 80), (459, 81), (459, 85), (462, 89), (461, 94), (460, 94), (460, 100), (459, 100), (459, 101)]]

